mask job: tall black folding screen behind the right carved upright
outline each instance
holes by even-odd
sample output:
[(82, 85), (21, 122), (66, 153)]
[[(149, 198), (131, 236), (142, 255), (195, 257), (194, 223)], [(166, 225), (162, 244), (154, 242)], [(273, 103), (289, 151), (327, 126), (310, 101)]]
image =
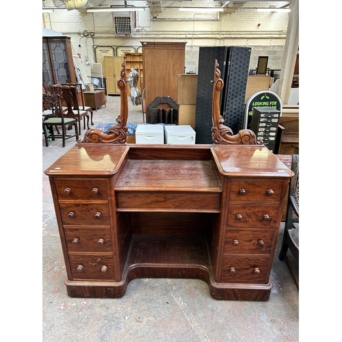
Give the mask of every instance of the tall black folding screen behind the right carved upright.
[(224, 124), (238, 133), (244, 124), (244, 101), (250, 63), (248, 47), (200, 47), (196, 96), (196, 144), (212, 144), (211, 135), (215, 60), (220, 65), (224, 88), (220, 115)]

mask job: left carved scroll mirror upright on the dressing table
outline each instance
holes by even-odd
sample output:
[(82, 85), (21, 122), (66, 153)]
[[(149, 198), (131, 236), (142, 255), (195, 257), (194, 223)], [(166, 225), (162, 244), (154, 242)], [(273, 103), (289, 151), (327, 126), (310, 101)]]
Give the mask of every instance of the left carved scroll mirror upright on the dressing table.
[(126, 60), (122, 63), (122, 70), (118, 80), (118, 88), (120, 89), (120, 116), (116, 118), (118, 124), (111, 126), (107, 133), (103, 133), (100, 129), (89, 129), (84, 133), (83, 140), (79, 143), (90, 142), (93, 144), (124, 144), (127, 141), (127, 118), (128, 118), (128, 97), (126, 86)]

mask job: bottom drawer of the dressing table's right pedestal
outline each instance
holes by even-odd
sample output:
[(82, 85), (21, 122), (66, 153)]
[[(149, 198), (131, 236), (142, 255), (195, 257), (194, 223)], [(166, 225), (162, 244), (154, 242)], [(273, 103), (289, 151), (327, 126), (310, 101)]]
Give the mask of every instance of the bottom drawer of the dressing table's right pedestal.
[(267, 265), (267, 257), (224, 257), (222, 263), (221, 281), (264, 284), (267, 276)]

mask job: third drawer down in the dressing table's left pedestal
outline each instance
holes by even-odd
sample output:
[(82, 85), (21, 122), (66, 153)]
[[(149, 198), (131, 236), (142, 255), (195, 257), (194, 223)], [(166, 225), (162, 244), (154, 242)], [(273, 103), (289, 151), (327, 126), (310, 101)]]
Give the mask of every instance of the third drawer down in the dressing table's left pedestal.
[(68, 252), (113, 252), (110, 229), (64, 229)]

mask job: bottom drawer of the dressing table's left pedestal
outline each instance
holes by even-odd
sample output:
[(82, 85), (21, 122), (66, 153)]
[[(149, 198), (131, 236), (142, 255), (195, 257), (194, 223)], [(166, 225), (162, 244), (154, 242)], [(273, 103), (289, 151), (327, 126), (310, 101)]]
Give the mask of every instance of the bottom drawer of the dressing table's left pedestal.
[(112, 255), (69, 254), (69, 261), (73, 280), (115, 280)]

